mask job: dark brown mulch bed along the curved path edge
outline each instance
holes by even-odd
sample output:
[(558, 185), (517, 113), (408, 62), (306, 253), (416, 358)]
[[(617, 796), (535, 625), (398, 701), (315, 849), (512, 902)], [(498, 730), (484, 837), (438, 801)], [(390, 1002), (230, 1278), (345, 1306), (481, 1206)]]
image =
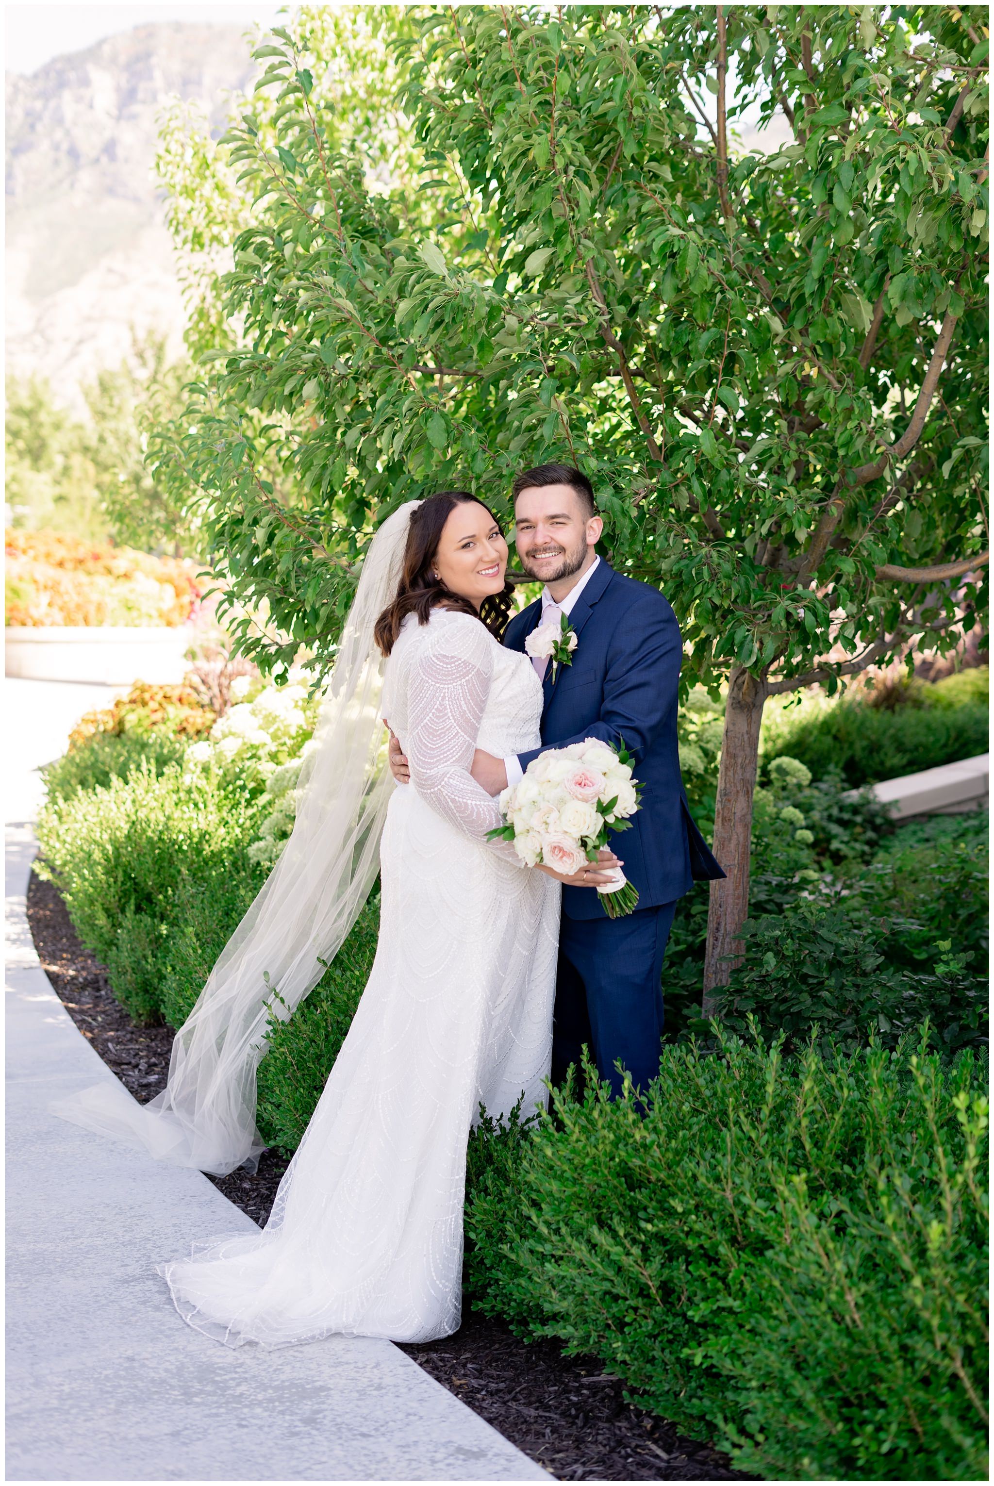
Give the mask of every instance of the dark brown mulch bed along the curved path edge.
[[(172, 1030), (137, 1027), (114, 1000), (104, 967), (83, 948), (65, 905), (34, 874), (28, 923), (42, 966), (67, 1012), (104, 1062), (143, 1104), (165, 1088)], [(287, 1162), (266, 1153), (254, 1175), (211, 1177), (259, 1224), (269, 1217)], [(556, 1342), (519, 1340), (502, 1321), (468, 1312), (455, 1336), (404, 1346), (557, 1480), (752, 1480), (707, 1444), (627, 1404), (623, 1385), (596, 1358), (566, 1358)]]

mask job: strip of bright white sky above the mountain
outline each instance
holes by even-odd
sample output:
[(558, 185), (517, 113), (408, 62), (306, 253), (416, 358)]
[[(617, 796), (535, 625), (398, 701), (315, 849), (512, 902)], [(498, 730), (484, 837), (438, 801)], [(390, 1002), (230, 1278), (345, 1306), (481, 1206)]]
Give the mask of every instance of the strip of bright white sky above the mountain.
[[(53, 56), (80, 52), (117, 31), (155, 21), (212, 21), (264, 25), (276, 21), (282, 4), (4, 4), (4, 67), (9, 73), (33, 73)], [(293, 9), (293, 6), (290, 6)]]

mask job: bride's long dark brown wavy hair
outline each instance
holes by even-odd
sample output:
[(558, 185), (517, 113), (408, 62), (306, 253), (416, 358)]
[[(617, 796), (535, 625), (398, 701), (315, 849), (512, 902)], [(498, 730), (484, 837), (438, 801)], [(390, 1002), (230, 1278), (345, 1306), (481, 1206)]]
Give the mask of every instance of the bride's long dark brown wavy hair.
[(492, 593), (486, 597), (477, 614), (468, 599), (450, 593), (434, 574), (432, 565), (446, 522), (456, 505), (470, 504), (483, 505), (493, 525), (501, 525), (490, 507), (471, 495), (470, 490), (440, 490), (438, 495), (429, 495), (412, 513), (397, 597), (383, 609), (373, 630), (383, 655), (389, 655), (392, 651), (400, 627), (409, 614), (416, 614), (418, 623), (426, 624), (431, 611), (437, 606), (455, 609), (458, 614), (471, 614), (474, 620), (486, 624), (498, 639), (504, 635), (514, 593), (513, 583), (505, 583), (501, 593)]

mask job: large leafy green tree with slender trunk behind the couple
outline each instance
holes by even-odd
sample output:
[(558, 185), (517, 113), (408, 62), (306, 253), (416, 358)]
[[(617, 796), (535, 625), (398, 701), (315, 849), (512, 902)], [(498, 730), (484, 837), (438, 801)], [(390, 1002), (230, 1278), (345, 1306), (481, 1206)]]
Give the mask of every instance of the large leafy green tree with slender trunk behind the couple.
[[(400, 501), (458, 481), (507, 510), (522, 462), (581, 464), (611, 560), (680, 618), (685, 684), (728, 687), (709, 988), (747, 911), (765, 698), (949, 646), (978, 608), (984, 19), (409, 9), (415, 214), (287, 28), (257, 52), (275, 111), (226, 137), (254, 190), (224, 281), (242, 342), (159, 458), (208, 493), (232, 593), (267, 605), (279, 633), (245, 648), (328, 657)], [(730, 143), (747, 107), (792, 143)]]

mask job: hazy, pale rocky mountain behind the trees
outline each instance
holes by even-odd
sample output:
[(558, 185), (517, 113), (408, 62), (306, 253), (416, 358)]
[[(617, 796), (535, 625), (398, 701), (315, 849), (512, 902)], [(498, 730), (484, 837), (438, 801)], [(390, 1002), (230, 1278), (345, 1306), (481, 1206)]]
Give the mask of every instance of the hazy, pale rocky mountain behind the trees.
[[(43, 13), (43, 12), (40, 12)], [(177, 346), (183, 303), (152, 163), (174, 95), (220, 132), (256, 70), (238, 27), (140, 25), (6, 77), (7, 369), (61, 401), (116, 366), (132, 333)]]

